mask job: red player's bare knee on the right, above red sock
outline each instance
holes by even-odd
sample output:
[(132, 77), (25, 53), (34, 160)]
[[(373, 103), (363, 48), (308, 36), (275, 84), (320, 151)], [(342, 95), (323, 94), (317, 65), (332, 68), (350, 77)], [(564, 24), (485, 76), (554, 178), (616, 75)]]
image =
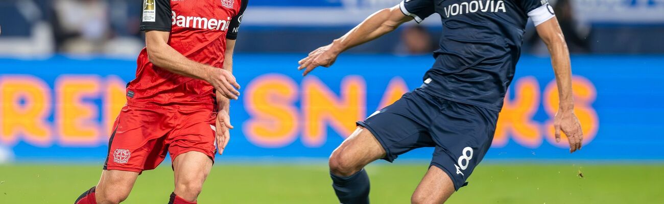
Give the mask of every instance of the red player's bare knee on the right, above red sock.
[(171, 201), (183, 199), (195, 203), (210, 170), (212, 170), (212, 160), (206, 154), (190, 151), (176, 156), (173, 160), (175, 195), (171, 196)]

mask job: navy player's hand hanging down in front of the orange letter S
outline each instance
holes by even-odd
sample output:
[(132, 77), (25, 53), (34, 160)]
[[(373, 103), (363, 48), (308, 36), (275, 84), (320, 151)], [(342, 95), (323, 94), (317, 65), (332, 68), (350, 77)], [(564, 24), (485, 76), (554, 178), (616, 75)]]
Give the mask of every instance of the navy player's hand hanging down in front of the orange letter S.
[(579, 119), (574, 115), (574, 111), (558, 110), (553, 121), (553, 126), (556, 128), (556, 142), (560, 142), (560, 131), (562, 130), (570, 142), (570, 153), (581, 149), (583, 132), (581, 130), (581, 123), (579, 123)]

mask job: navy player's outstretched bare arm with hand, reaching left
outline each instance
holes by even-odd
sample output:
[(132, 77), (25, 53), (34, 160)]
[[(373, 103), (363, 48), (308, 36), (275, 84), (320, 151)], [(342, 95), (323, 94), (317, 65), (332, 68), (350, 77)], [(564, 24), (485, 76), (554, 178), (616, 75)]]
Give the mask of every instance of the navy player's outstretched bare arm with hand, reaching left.
[(297, 70), (304, 70), (302, 76), (306, 76), (318, 66), (325, 68), (332, 66), (341, 52), (392, 32), (398, 26), (412, 20), (412, 17), (401, 12), (398, 5), (377, 11), (341, 38), (333, 40), (327, 46), (313, 50), (309, 56), (299, 60)]

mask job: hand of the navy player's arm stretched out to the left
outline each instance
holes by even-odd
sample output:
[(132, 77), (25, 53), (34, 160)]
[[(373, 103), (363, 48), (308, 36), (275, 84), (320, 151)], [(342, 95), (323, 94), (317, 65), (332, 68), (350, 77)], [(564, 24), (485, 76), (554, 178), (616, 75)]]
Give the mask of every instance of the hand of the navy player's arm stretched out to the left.
[(299, 60), (299, 62), (297, 62), (297, 64), (299, 64), (297, 70), (304, 70), (302, 76), (307, 76), (309, 72), (313, 71), (313, 69), (318, 66), (329, 68), (335, 61), (337, 61), (337, 56), (339, 56), (339, 52), (333, 49), (333, 44), (322, 46), (309, 52), (309, 56), (306, 58)]

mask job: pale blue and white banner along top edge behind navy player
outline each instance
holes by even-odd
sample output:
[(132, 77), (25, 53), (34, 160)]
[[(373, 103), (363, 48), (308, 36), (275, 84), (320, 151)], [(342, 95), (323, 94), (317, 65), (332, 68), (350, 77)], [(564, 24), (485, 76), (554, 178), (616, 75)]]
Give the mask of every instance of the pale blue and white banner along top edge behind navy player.
[[(664, 23), (664, 1), (661, 0), (583, 0), (558, 2), (572, 12), (580, 24), (610, 23), (627, 25), (661, 25)], [(400, 0), (252, 0), (247, 10), (246, 25), (355, 25), (379, 9), (393, 7)], [(435, 15), (434, 15), (435, 16)], [(565, 17), (570, 18), (570, 17)], [(440, 26), (438, 16), (424, 21)], [(244, 24), (244, 22), (243, 22)]]

